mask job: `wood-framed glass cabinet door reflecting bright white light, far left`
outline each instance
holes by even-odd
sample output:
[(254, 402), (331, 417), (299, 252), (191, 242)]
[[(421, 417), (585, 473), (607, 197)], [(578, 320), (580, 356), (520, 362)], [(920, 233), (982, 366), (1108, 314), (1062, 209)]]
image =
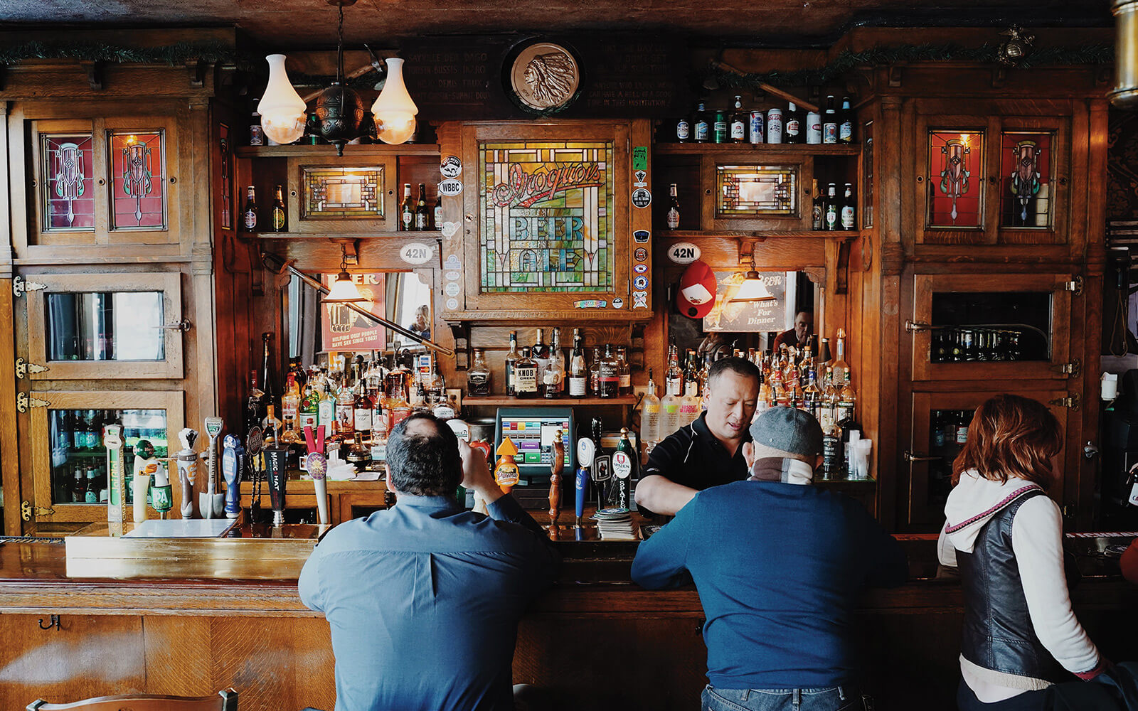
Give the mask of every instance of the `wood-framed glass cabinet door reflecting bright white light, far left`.
[(48, 369), (33, 380), (182, 378), (179, 273), (31, 278), (28, 357)]

